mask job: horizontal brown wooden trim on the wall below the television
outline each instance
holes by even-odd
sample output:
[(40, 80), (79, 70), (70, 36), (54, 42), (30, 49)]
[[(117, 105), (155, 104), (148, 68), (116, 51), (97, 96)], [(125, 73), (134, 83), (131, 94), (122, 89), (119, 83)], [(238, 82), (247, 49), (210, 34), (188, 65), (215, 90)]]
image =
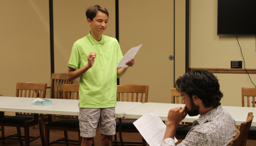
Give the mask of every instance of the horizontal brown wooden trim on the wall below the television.
[(231, 69), (231, 68), (189, 68), (190, 70), (193, 69), (203, 69), (203, 70), (208, 70), (211, 73), (246, 73), (246, 70), (248, 73), (251, 74), (256, 74), (256, 69)]

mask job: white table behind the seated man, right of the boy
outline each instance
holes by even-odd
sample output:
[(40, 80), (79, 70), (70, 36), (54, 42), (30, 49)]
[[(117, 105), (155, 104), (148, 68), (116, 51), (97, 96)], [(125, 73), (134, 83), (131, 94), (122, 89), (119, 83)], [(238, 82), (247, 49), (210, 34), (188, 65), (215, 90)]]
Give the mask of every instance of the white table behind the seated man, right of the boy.
[[(167, 115), (170, 109), (185, 106), (184, 104), (171, 104), (171, 103), (143, 103), (140, 106), (137, 106), (127, 112), (125, 112), (125, 118), (138, 119), (143, 116), (145, 113), (154, 109), (158, 114), (160, 119), (163, 121), (167, 121)], [(240, 125), (241, 123), (246, 121), (247, 115), (249, 112), (254, 113), (256, 115), (255, 107), (237, 107), (237, 106), (222, 106), (226, 109), (230, 115), (235, 119), (236, 125)], [(187, 115), (182, 122), (193, 122), (198, 119), (199, 116), (189, 116)], [(252, 126), (256, 126), (256, 119), (253, 119)]]

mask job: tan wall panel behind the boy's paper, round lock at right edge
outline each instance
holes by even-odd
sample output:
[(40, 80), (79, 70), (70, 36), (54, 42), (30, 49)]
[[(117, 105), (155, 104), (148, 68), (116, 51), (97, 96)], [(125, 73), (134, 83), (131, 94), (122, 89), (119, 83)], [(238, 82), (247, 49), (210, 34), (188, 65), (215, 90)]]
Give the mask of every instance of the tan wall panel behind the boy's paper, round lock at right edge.
[(174, 43), (173, 0), (119, 0), (119, 33), (123, 55), (141, 43), (135, 66), (120, 84), (149, 85), (148, 102), (171, 103)]

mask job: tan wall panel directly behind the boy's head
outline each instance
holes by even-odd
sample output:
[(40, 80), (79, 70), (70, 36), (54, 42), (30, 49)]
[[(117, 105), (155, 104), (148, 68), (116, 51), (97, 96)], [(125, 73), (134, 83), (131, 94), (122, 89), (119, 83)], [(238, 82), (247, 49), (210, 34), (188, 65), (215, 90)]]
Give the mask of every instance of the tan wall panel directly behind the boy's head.
[[(115, 37), (115, 0), (54, 0), (54, 65), (55, 73), (67, 73), (72, 46), (91, 30), (85, 16), (86, 8), (102, 5), (109, 13), (104, 35)], [(73, 83), (79, 83), (78, 79)]]

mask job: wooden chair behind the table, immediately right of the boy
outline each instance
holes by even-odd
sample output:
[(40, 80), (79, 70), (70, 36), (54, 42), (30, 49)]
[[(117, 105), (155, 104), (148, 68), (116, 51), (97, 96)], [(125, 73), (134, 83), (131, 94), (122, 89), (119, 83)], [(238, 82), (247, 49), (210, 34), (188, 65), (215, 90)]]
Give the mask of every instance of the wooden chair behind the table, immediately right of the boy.
[[(147, 103), (148, 102), (148, 85), (133, 85), (133, 84), (118, 85), (117, 101)], [(122, 119), (121, 121), (122, 133), (139, 133), (136, 127), (133, 125), (133, 122), (135, 122), (135, 120), (136, 119)], [(116, 121), (116, 131), (119, 131), (119, 121)], [(113, 143), (115, 145), (117, 145), (118, 143), (120, 144), (120, 142), (117, 142), (116, 135)], [(132, 142), (124, 142), (124, 143), (146, 145), (146, 141), (143, 138), (142, 138), (142, 143), (132, 143)]]

